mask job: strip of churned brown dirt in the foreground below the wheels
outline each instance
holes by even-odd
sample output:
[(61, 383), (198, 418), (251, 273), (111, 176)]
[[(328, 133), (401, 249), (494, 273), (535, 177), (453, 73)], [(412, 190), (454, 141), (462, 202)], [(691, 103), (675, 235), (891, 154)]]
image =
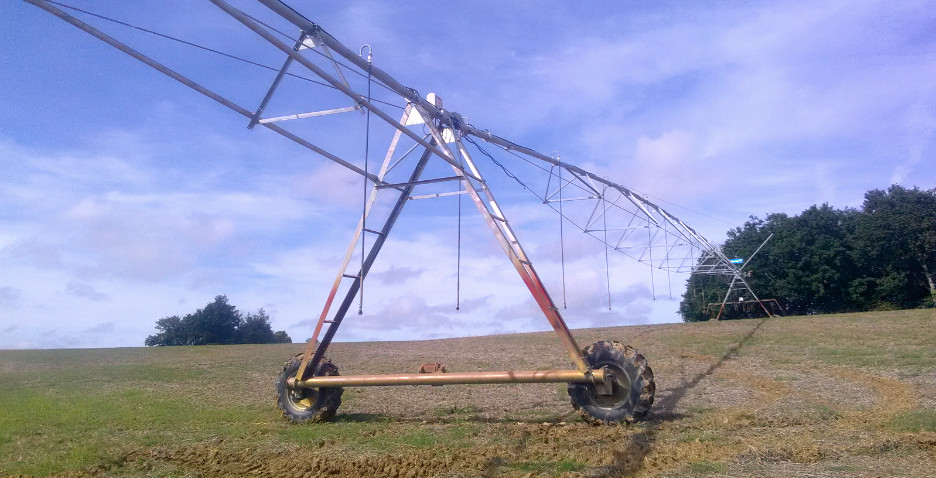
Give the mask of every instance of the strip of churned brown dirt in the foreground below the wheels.
[[(561, 465), (560, 449), (570, 440), (588, 437), (596, 447), (577, 468), (577, 476), (620, 476), (621, 463), (636, 471), (650, 443), (634, 438), (637, 432), (626, 427), (592, 427), (585, 424), (501, 424), (492, 430), (503, 440), (499, 446), (480, 448), (410, 449), (406, 453), (349, 453), (328, 441), (313, 446), (287, 446), (279, 450), (236, 449), (223, 442), (194, 446), (158, 447), (128, 454), (117, 467), (97, 467), (70, 476), (122, 474), (131, 470), (148, 472), (172, 470), (196, 476), (367, 476), (367, 477), (467, 477), (467, 476), (546, 476)], [(608, 443), (624, 443), (624, 448), (604, 449)], [(636, 448), (634, 448), (636, 447)], [(632, 449), (629, 449), (632, 448)], [(571, 462), (570, 462), (571, 463)], [(532, 470), (531, 470), (532, 468)]]

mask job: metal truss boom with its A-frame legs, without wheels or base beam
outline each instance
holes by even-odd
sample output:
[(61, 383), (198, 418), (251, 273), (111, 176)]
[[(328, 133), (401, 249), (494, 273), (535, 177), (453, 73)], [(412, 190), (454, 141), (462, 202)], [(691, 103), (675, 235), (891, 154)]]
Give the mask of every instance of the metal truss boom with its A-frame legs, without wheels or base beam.
[[(322, 359), (325, 349), (328, 347), (338, 326), (351, 307), (355, 296), (362, 289), (365, 276), (376, 259), (377, 254), (393, 228), (404, 205), (411, 199), (442, 197), (452, 194), (466, 194), (477, 206), (485, 222), (504, 249), (504, 252), (514, 264), (524, 284), (530, 290), (537, 305), (556, 331), (563, 348), (567, 351), (573, 363), (575, 363), (578, 371), (584, 373), (589, 369), (588, 364), (584, 361), (581, 349), (572, 338), (558, 308), (546, 291), (539, 275), (533, 268), (530, 258), (527, 257), (521, 247), (520, 240), (510, 226), (504, 211), (495, 200), (488, 187), (488, 183), (480, 171), (481, 168), (478, 163), (474, 161), (466, 147), (466, 142), (477, 147), (484, 156), (488, 156), (500, 166), (505, 173), (525, 187), (526, 185), (523, 181), (544, 182), (546, 188), (542, 197), (538, 196), (540, 200), (547, 206), (556, 210), (556, 212), (562, 214), (563, 219), (569, 220), (586, 234), (603, 242), (609, 249), (629, 256), (653, 269), (665, 270), (667, 272), (725, 274), (744, 282), (741, 268), (732, 264), (719, 247), (708, 241), (673, 214), (653, 202), (650, 202), (645, 196), (594, 172), (560, 161), (558, 156), (551, 157), (545, 155), (534, 149), (518, 145), (492, 134), (487, 130), (476, 128), (461, 114), (443, 108), (441, 100), (434, 94), (430, 94), (426, 98), (421, 97), (416, 90), (404, 86), (391, 75), (373, 65), (369, 59), (365, 59), (358, 52), (347, 48), (319, 25), (302, 16), (280, 0), (258, 0), (258, 2), (289, 24), (298, 28), (299, 31), (297, 35), (295, 37), (290, 37), (290, 41), (294, 42), (291, 44), (283, 42), (270, 32), (268, 26), (233, 7), (226, 1), (209, 0), (224, 13), (243, 24), (286, 56), (282, 68), (278, 70), (276, 77), (273, 79), (269, 88), (267, 88), (266, 94), (260, 101), (259, 106), (253, 111), (235, 104), (218, 93), (156, 62), (137, 50), (98, 31), (94, 27), (81, 22), (56, 8), (48, 1), (25, 1), (52, 13), (151, 68), (154, 68), (160, 73), (232, 109), (249, 120), (248, 128), (262, 125), (328, 160), (356, 174), (364, 176), (366, 181), (369, 182), (365, 185), (365, 207), (361, 220), (352, 237), (351, 246), (348, 249), (341, 270), (336, 277), (332, 291), (328, 296), (325, 308), (320, 315), (313, 340), (309, 343), (309, 349), (300, 367), (301, 372), (297, 377), (299, 381), (303, 379), (303, 373), (307, 370), (307, 366), (309, 367), (308, 370), (314, 371), (316, 365)], [(319, 49), (317, 52), (327, 58), (329, 64), (334, 66), (334, 69), (337, 71), (336, 74), (326, 71), (325, 68), (316, 64), (313, 59), (310, 59), (306, 52), (307, 50), (314, 49)], [(347, 64), (339, 64), (336, 61), (336, 57), (343, 59)], [(286, 77), (287, 69), (298, 66), (305, 68), (315, 76), (324, 80), (328, 86), (350, 98), (353, 106), (323, 109), (311, 113), (262, 117), (267, 106), (273, 100), (277, 87)], [(368, 93), (366, 95), (355, 90), (355, 86), (352, 86), (348, 81), (342, 72), (342, 68), (351, 70), (361, 77), (367, 78)], [(276, 70), (274, 69), (274, 71)], [(403, 100), (404, 104), (402, 108), (404, 108), (404, 115), (402, 119), (397, 120), (384, 111), (381, 103), (387, 104), (386, 102), (378, 102), (371, 97), (371, 82), (382, 86)], [(360, 85), (357, 86), (360, 87)], [(300, 137), (298, 134), (274, 124), (289, 120), (314, 121), (314, 118), (321, 118), (326, 115), (341, 114), (354, 110), (372, 113), (394, 131), (394, 137), (391, 141), (390, 148), (377, 174), (369, 171), (366, 166), (361, 168), (353, 164), (352, 161), (330, 153), (303, 137)], [(414, 131), (411, 128), (413, 125), (423, 125), (423, 132)], [(368, 132), (369, 131), (368, 129)], [(422, 154), (418, 161), (408, 169), (408, 175), (402, 178), (391, 179), (388, 177), (388, 174), (398, 164), (403, 162), (406, 155), (409, 154), (408, 151), (401, 158), (396, 160), (393, 158), (398, 142), (404, 139), (404, 137), (406, 141), (413, 143), (409, 151), (419, 150)], [(481, 149), (480, 145), (471, 140), (471, 137), (481, 139), (487, 144), (496, 146), (503, 152), (498, 152), (498, 154), (514, 156), (520, 161), (512, 162), (510, 164), (510, 169), (508, 169), (506, 165), (498, 162), (492, 154)], [(450, 148), (450, 145), (454, 147), (454, 152), (453, 149)], [(432, 158), (438, 158), (438, 160), (447, 163), (447, 166), (451, 167), (454, 176), (447, 175), (423, 178), (422, 175)], [(515, 174), (511, 172), (515, 167), (524, 168), (524, 170), (522, 173)], [(523, 178), (520, 176), (523, 176)], [(424, 188), (433, 185), (438, 186), (456, 181), (461, 185), (461, 189), (458, 193), (442, 192), (420, 196), (413, 194), (416, 188)], [(532, 188), (528, 189), (532, 190)], [(563, 198), (562, 191), (568, 189), (580, 191), (583, 195), (571, 198), (566, 196)], [(374, 205), (376, 196), (380, 191), (396, 193), (396, 199), (389, 212), (384, 216), (383, 227), (380, 230), (366, 229), (365, 224), (367, 223), (366, 221), (368, 221), (367, 218), (371, 214), (371, 207)], [(567, 202), (568, 204), (565, 206), (564, 210), (556, 207), (557, 204), (561, 206), (561, 202)], [(367, 253), (364, 252), (362, 246), (361, 269), (357, 274), (349, 275), (346, 273), (346, 270), (350, 263), (351, 256), (356, 251), (355, 244), (357, 244), (358, 241), (363, 241), (365, 233), (375, 234), (376, 239), (370, 245), (370, 250)], [(351, 285), (348, 286), (345, 298), (340, 303), (337, 312), (329, 319), (328, 314), (330, 313), (329, 309), (332, 305), (332, 301), (336, 297), (338, 289), (341, 287), (342, 279), (345, 278), (351, 278), (353, 281)], [(324, 336), (322, 337), (321, 346), (315, 348), (315, 339), (319, 337), (325, 324), (328, 324), (328, 328), (325, 330)]]

